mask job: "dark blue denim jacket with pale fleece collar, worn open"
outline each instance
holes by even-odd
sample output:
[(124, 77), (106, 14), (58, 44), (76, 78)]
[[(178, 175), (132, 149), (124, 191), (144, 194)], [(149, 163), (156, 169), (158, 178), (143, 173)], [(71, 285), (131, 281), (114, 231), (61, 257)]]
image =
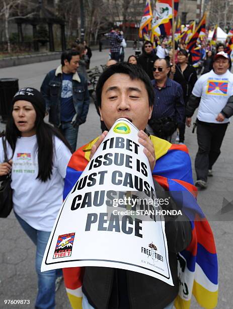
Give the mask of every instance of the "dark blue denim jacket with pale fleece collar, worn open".
[[(90, 97), (88, 92), (88, 83), (84, 76), (74, 73), (72, 78), (73, 84), (73, 106), (75, 116), (72, 120), (73, 126), (85, 123)], [(62, 85), (62, 67), (50, 71), (40, 88), (40, 91), (46, 102), (46, 111), (49, 113), (49, 122), (55, 126), (60, 125), (60, 97)]]

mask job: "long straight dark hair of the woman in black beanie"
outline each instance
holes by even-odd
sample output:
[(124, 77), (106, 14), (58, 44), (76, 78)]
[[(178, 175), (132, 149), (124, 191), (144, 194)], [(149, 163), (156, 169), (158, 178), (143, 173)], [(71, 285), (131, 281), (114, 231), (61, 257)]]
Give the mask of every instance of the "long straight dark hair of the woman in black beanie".
[[(37, 151), (38, 151), (38, 175), (36, 179), (46, 182), (51, 179), (53, 168), (53, 155), (54, 155), (54, 136), (57, 136), (71, 151), (71, 147), (58, 129), (52, 127), (44, 122), (44, 119), (35, 105), (36, 111), (36, 138), (37, 138)], [(21, 132), (15, 125), (12, 113), (9, 117), (6, 126), (6, 138), (9, 142), (13, 153), (16, 148), (17, 138), (21, 137)]]

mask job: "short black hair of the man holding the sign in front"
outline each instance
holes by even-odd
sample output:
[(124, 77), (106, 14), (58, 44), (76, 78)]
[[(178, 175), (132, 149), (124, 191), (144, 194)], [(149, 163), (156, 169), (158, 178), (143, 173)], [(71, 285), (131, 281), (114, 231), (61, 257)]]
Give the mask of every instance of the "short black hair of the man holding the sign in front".
[(141, 80), (146, 88), (149, 98), (149, 106), (153, 106), (154, 92), (153, 86), (150, 82), (149, 76), (145, 71), (137, 65), (133, 65), (127, 62), (116, 63), (108, 67), (100, 76), (97, 86), (96, 86), (96, 100), (97, 105), (101, 107), (101, 94), (104, 83), (109, 79), (113, 74), (126, 74), (129, 75), (131, 80), (139, 79)]

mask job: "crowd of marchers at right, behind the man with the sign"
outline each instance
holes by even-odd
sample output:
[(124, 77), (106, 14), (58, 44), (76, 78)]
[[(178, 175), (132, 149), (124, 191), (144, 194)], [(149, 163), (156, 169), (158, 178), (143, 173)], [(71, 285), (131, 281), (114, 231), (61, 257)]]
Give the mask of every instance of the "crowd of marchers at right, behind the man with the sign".
[(206, 189), (207, 177), (213, 176), (212, 167), (233, 115), (231, 59), (223, 43), (217, 43), (212, 50), (209, 45), (205, 50), (201, 44), (200, 64), (194, 68), (186, 44), (175, 43), (173, 55), (167, 40), (156, 49), (152, 42), (145, 41), (142, 54), (130, 56), (128, 62), (142, 67), (153, 85), (153, 112), (146, 127), (150, 134), (184, 144), (185, 127), (191, 126), (191, 116), (198, 108), (194, 121), (198, 141), (195, 185)]

